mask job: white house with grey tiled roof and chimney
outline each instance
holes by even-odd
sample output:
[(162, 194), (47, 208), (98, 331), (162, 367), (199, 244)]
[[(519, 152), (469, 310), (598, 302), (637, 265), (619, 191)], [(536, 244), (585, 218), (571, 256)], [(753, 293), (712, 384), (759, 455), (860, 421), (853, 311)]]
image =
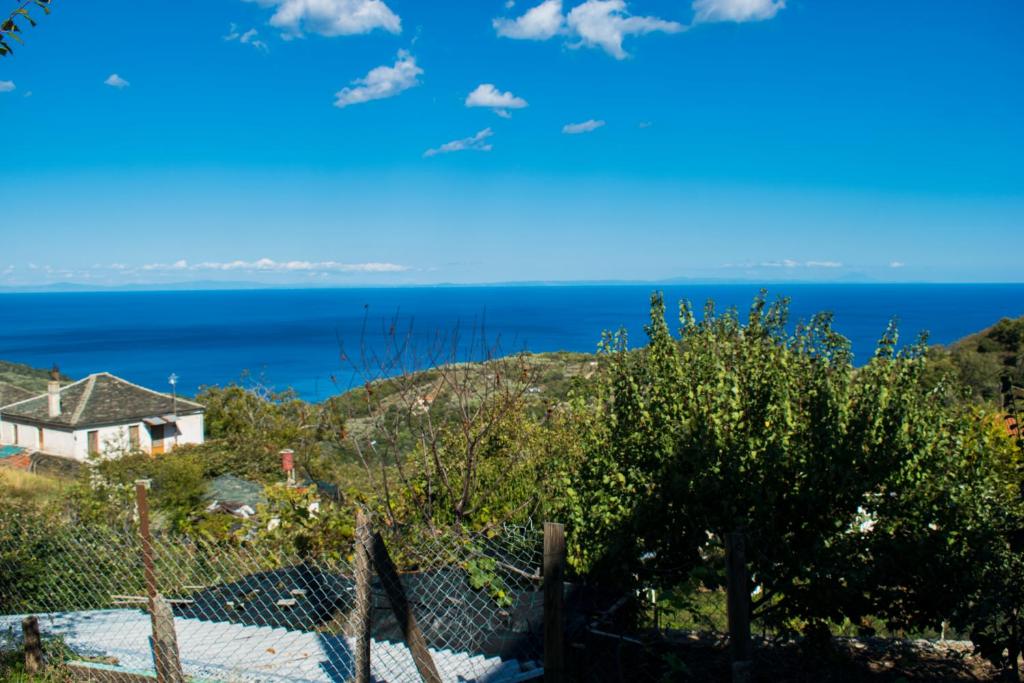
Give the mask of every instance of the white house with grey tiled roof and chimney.
[(110, 373), (0, 408), (0, 444), (85, 460), (90, 454), (151, 454), (202, 443), (204, 408)]

